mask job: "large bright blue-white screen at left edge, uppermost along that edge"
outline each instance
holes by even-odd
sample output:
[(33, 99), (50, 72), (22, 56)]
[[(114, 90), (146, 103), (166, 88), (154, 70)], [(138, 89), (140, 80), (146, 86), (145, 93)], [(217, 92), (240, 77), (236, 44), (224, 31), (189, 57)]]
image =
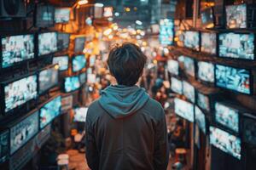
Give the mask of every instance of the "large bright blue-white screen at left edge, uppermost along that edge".
[(35, 57), (34, 35), (1, 37), (2, 68), (18, 64)]

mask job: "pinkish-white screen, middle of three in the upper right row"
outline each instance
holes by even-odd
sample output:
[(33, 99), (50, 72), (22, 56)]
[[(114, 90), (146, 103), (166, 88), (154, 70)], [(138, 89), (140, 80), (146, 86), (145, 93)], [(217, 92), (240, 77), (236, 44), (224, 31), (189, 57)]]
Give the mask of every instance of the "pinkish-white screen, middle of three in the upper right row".
[(216, 54), (217, 35), (214, 32), (201, 32), (201, 52)]

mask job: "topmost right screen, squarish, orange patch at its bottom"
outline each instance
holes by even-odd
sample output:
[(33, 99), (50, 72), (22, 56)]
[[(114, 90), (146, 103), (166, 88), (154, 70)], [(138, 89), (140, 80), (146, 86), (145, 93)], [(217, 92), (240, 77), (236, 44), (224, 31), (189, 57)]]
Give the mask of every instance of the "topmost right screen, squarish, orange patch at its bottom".
[(247, 28), (247, 5), (229, 5), (226, 9), (227, 28)]

